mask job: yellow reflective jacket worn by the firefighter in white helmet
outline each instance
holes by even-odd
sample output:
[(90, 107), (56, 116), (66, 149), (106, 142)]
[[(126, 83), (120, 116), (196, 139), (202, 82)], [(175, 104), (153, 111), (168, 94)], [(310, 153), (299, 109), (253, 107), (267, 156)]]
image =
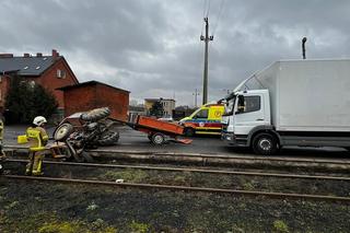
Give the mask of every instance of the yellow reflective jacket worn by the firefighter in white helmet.
[(26, 129), (26, 137), (30, 142), (30, 151), (45, 150), (48, 135), (43, 127), (30, 127)]

